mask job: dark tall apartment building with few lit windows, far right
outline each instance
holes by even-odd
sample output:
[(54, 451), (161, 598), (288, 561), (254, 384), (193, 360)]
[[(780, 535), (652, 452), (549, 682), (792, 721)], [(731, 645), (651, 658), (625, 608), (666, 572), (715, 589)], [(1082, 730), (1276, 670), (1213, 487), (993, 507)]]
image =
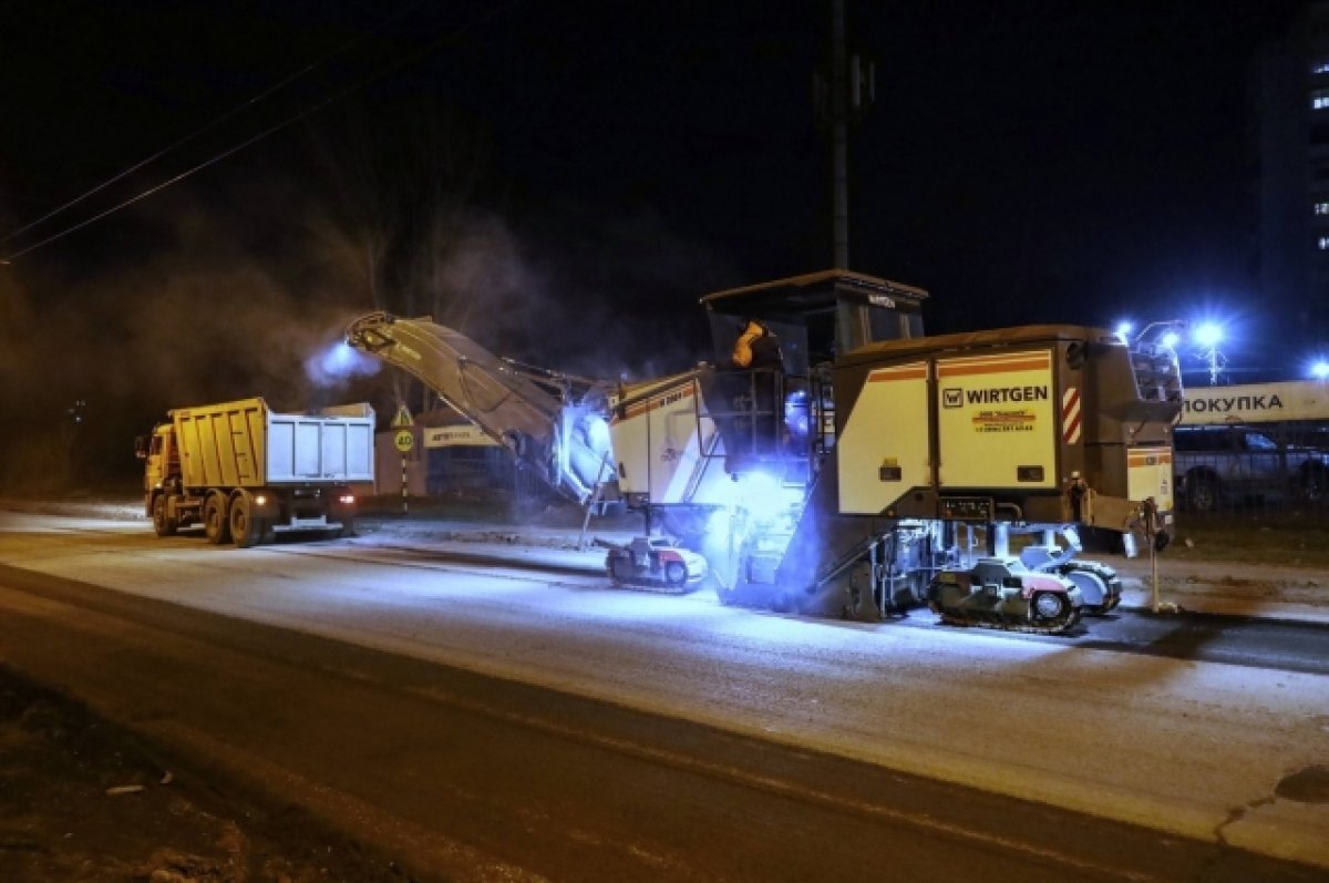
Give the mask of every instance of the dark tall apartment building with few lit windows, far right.
[(1260, 289), (1308, 351), (1329, 343), (1329, 1), (1302, 5), (1251, 76)]

